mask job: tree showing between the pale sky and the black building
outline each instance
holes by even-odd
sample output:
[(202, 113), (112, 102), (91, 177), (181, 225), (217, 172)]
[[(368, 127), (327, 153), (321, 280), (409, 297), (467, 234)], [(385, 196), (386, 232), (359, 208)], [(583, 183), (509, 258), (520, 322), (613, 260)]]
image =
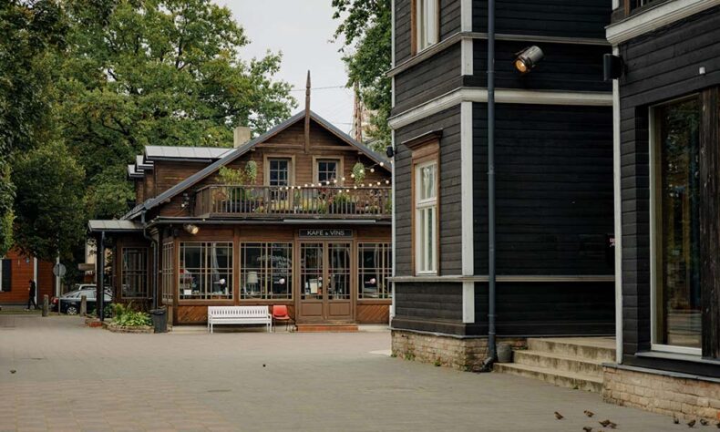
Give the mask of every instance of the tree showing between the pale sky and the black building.
[(390, 145), (392, 23), (390, 0), (333, 0), (334, 19), (342, 19), (334, 37), (344, 37), (348, 87), (359, 86), (365, 107), (373, 111), (370, 139), (376, 150)]

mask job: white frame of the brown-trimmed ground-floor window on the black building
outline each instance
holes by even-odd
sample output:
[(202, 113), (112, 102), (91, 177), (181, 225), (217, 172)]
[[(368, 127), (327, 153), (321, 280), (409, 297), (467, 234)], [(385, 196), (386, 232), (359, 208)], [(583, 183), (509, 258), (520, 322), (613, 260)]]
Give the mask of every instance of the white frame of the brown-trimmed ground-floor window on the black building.
[[(415, 165), (415, 269), (417, 274), (437, 274), (437, 190), (439, 183), (437, 165), (437, 159), (430, 159)], [(421, 199), (421, 191), (424, 189), (421, 173), (423, 169), (430, 166), (435, 166), (435, 195), (431, 198)], [(432, 232), (429, 232), (427, 223), (420, 223), (420, 221), (425, 221), (421, 214), (428, 210), (434, 210)], [(429, 252), (431, 253), (429, 259), (426, 250), (428, 237), (430, 240)]]

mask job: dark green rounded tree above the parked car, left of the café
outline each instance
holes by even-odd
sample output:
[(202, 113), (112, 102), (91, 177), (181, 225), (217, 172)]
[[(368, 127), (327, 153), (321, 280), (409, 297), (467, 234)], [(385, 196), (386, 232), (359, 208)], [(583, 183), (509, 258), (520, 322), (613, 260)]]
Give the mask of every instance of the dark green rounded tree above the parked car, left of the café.
[(18, 248), (43, 260), (69, 258), (84, 242), (85, 171), (60, 141), (17, 155), (13, 182)]

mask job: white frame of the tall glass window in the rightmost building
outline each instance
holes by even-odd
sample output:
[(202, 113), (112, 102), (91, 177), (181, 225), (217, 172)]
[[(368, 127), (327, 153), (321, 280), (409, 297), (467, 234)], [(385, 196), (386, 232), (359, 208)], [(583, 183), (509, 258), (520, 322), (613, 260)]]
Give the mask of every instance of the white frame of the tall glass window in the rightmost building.
[(702, 348), (691, 348), (688, 346), (678, 346), (678, 345), (665, 345), (665, 344), (657, 344), (655, 341), (658, 340), (658, 328), (657, 328), (657, 319), (658, 319), (658, 304), (657, 304), (657, 290), (658, 290), (658, 283), (657, 283), (657, 271), (658, 271), (658, 245), (657, 245), (657, 227), (656, 225), (656, 219), (659, 215), (660, 209), (658, 207), (658, 202), (655, 200), (655, 196), (657, 193), (657, 181), (660, 180), (661, 175), (661, 167), (658, 166), (656, 163), (656, 160), (658, 156), (660, 155), (660, 149), (659, 146), (661, 145), (660, 142), (657, 141), (657, 125), (655, 123), (655, 117), (657, 116), (657, 108), (662, 108), (666, 105), (673, 104), (675, 102), (680, 102), (685, 99), (689, 98), (698, 98), (699, 95), (697, 93), (691, 94), (691, 95), (685, 95), (682, 98), (676, 98), (673, 100), (665, 101), (662, 104), (653, 105), (652, 107), (648, 108), (648, 160), (650, 162), (650, 349), (652, 351), (657, 351), (661, 353), (671, 353), (671, 354), (682, 354), (682, 355), (697, 355), (702, 356), (703, 355), (703, 349)]

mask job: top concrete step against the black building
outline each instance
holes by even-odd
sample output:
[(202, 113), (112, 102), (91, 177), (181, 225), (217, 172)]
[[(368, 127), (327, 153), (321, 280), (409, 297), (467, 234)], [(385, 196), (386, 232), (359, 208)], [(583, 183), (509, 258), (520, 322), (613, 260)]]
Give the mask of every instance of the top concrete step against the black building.
[(615, 340), (612, 337), (529, 338), (528, 350), (593, 362), (615, 361)]

